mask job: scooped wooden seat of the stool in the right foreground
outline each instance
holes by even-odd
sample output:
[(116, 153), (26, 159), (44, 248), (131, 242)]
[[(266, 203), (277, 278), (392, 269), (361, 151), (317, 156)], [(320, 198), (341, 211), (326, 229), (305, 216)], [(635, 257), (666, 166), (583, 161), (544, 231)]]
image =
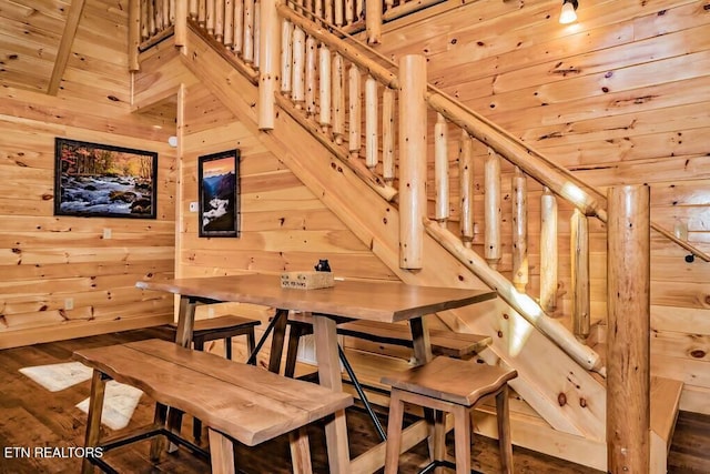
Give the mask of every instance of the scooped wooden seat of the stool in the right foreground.
[(427, 364), (386, 375), (382, 381), (407, 392), (471, 406), (517, 375), (515, 370), (438, 356)]

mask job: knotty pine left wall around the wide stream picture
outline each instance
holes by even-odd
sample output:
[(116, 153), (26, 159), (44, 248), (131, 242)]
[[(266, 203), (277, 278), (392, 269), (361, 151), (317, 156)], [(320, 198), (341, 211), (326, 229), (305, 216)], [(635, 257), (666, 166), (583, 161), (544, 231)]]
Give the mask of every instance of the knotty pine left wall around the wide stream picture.
[[(120, 78), (112, 80), (118, 88)], [(89, 85), (100, 83), (98, 75), (82, 81), (71, 100), (64, 91), (51, 98), (2, 89), (0, 347), (172, 320), (172, 297), (134, 283), (174, 274), (176, 170), (166, 144), (174, 124), (132, 114), (120, 102), (102, 104), (97, 95), (105, 91)], [(54, 216), (55, 137), (158, 152), (158, 219)]]

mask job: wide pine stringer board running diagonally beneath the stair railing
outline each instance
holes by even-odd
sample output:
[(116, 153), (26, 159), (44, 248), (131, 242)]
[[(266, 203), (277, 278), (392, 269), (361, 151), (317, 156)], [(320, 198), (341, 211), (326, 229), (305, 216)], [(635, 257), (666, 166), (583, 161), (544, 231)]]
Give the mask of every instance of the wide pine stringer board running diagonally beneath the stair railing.
[[(485, 288), (468, 269), (426, 234), (424, 269), (399, 269), (398, 212), (390, 203), (335, 159), (285, 111), (278, 110), (274, 130), (260, 131), (256, 124), (256, 87), (199, 36), (189, 33), (181, 58), (183, 64), (243, 121), (254, 137), (278, 157), (403, 282)], [(478, 304), (448, 311), (440, 316), (459, 331), (491, 335), (494, 344), (485, 351), (486, 359), (491, 363), (500, 360), (518, 371), (519, 376), (511, 385), (554, 428), (596, 441), (605, 438), (604, 384), (536, 330), (527, 334), (526, 343), (515, 356), (511, 355), (511, 330), (519, 331), (526, 324), (529, 329), (531, 326), (509, 306), (503, 302)]]

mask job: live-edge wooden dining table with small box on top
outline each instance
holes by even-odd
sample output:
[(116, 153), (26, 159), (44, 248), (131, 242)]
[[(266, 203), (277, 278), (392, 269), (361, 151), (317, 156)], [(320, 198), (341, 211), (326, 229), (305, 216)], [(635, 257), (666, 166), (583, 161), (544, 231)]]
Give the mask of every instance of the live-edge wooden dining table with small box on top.
[[(432, 360), (426, 319), (423, 316), (496, 297), (490, 290), (349, 280), (338, 280), (326, 289), (285, 289), (281, 286), (280, 275), (266, 274), (139, 281), (136, 286), (181, 296), (175, 342), (183, 346), (191, 344), (196, 304), (239, 302), (274, 307), (274, 340), (270, 355), (270, 370), (273, 371), (277, 371), (281, 363), (288, 312), (312, 313), (320, 384), (338, 392), (343, 390), (343, 382), (335, 319), (408, 321), (415, 364), (423, 364)], [(426, 431), (419, 433), (426, 436)], [(351, 462), (344, 410), (326, 423), (325, 435), (332, 473), (372, 472), (384, 465), (383, 444)]]

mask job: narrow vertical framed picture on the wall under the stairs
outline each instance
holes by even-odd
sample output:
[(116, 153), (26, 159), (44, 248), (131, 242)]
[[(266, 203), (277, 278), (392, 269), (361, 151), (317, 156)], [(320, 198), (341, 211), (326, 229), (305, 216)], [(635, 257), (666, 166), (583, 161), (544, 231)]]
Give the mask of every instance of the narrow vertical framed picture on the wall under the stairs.
[(197, 228), (201, 238), (240, 235), (240, 151), (197, 159)]

